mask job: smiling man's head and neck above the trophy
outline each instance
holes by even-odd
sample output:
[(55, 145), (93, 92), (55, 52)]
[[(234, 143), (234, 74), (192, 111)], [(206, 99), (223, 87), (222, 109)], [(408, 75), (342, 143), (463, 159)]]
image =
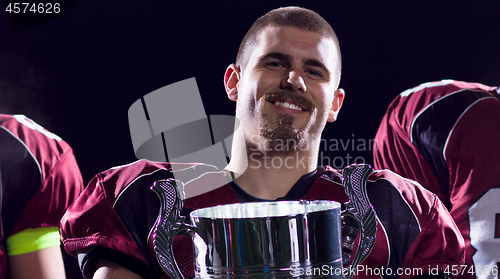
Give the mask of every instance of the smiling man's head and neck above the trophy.
[[(307, 30), (312, 15), (303, 15), (296, 26), (284, 19), (284, 26), (265, 26), (275, 19), (271, 15), (250, 29), (237, 64), (225, 75), (241, 120), (227, 169), (237, 173), (240, 187), (265, 199), (284, 197), (289, 185), (317, 168), (321, 132), (327, 121), (335, 121), (344, 99), (337, 89), (340, 51), (331, 27), (321, 22)], [(293, 165), (283, 168), (284, 162)], [(277, 172), (270, 171), (273, 165)]]

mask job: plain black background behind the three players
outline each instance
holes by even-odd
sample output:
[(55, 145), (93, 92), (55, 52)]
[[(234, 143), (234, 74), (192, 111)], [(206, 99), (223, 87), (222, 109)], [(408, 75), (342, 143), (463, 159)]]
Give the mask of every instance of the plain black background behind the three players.
[[(232, 115), (227, 65), (255, 19), (288, 5), (317, 11), (340, 39), (346, 99), (325, 138), (368, 141), (391, 100), (423, 82), (500, 85), (496, 0), (88, 0), (19, 32), (0, 11), (0, 112), (25, 114), (65, 139), (87, 183), (136, 159), (128, 108), (155, 89), (196, 77), (206, 113)], [(351, 148), (328, 156), (372, 160)]]

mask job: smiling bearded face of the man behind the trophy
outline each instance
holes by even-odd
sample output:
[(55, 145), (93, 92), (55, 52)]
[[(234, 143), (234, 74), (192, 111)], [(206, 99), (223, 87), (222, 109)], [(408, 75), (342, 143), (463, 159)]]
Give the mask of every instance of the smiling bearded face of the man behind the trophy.
[(326, 122), (335, 120), (342, 102), (336, 91), (339, 69), (333, 40), (269, 26), (251, 51), (237, 84), (236, 117), (245, 136), (253, 142), (266, 140), (271, 144), (267, 148), (283, 142), (307, 148)]

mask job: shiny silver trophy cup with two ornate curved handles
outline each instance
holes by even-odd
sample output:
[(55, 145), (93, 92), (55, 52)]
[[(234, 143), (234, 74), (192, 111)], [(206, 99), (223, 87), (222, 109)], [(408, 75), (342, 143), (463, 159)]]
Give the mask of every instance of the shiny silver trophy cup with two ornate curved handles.
[[(352, 165), (343, 171), (349, 202), (346, 210), (334, 201), (273, 201), (227, 204), (180, 215), (183, 184), (167, 179), (154, 183), (161, 208), (154, 231), (154, 249), (162, 269), (183, 279), (173, 256), (175, 235), (190, 232), (196, 278), (351, 278), (352, 270), (370, 253), (377, 223), (366, 193), (369, 165)], [(360, 241), (350, 262), (359, 223)], [(345, 218), (344, 218), (345, 219)], [(343, 251), (344, 250), (344, 251)], [(344, 254), (344, 257), (342, 256)], [(346, 272), (347, 271), (347, 272)]]

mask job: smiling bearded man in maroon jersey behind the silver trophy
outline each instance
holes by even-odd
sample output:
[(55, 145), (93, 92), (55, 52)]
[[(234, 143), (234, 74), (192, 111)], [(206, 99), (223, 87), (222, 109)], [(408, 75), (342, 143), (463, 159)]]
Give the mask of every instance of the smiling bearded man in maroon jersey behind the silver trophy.
[[(263, 200), (347, 202), (341, 171), (317, 166), (321, 133), (336, 120), (345, 95), (338, 88), (340, 68), (337, 37), (317, 13), (288, 7), (259, 18), (224, 75), (240, 120), (231, 162), (220, 172), (182, 165), (175, 178), (190, 180), (185, 189), (220, 185), (189, 196), (182, 214)], [(68, 210), (63, 242), (87, 278), (168, 278), (152, 247), (159, 201), (149, 188), (172, 178), (173, 165), (140, 160), (104, 171)], [(367, 192), (377, 236), (358, 278), (442, 276), (460, 268), (463, 238), (435, 195), (390, 171), (372, 173)], [(357, 247), (353, 242), (343, 235), (345, 265)], [(194, 277), (191, 238), (177, 235), (173, 248), (183, 276)]]

